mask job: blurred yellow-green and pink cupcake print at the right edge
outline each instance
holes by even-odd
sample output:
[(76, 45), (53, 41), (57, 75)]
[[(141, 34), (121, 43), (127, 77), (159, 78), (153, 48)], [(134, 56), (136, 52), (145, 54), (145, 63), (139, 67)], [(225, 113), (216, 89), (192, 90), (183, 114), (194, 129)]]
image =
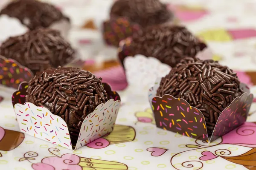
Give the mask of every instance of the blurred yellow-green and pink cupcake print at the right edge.
[(256, 37), (256, 30), (253, 28), (224, 29), (216, 28), (201, 31), (197, 34), (205, 41), (230, 42)]

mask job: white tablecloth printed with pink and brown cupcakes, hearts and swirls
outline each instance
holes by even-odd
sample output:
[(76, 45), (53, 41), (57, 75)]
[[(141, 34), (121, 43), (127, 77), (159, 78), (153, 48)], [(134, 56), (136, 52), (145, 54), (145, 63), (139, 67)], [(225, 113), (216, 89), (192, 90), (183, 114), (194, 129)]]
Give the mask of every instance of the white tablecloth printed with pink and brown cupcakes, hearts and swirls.
[[(112, 0), (46, 1), (71, 17), (70, 41), (84, 59), (105, 59), (101, 53), (106, 49), (100, 23), (108, 18)], [(165, 2), (181, 23), (207, 41), (214, 52), (213, 59), (238, 71), (240, 80), (256, 96), (256, 1)], [(120, 67), (112, 68), (108, 74), (98, 74), (107, 79), (109, 73), (117, 70)], [(123, 74), (110, 81), (116, 87), (126, 83)], [(205, 143), (156, 128), (145, 97), (120, 91), (122, 106), (114, 131), (72, 151), (18, 132), (11, 102), (13, 91), (0, 87), (0, 170), (256, 170), (255, 103), (244, 125)]]

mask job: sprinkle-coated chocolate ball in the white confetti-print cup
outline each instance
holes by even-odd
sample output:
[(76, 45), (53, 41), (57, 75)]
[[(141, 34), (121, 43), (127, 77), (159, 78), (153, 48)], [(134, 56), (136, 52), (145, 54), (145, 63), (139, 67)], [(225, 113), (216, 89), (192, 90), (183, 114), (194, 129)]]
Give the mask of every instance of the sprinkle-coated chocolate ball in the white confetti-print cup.
[(48, 108), (67, 123), (76, 144), (81, 124), (94, 109), (107, 101), (102, 79), (79, 68), (48, 68), (29, 81), (26, 102)]

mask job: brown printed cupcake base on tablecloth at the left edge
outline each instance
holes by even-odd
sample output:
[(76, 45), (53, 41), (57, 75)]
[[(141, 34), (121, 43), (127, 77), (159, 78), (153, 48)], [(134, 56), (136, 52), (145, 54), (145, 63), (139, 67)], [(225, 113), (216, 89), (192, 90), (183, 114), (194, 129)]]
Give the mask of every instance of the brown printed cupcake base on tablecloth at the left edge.
[(13, 150), (23, 142), (24, 138), (24, 133), (0, 127), (0, 150)]

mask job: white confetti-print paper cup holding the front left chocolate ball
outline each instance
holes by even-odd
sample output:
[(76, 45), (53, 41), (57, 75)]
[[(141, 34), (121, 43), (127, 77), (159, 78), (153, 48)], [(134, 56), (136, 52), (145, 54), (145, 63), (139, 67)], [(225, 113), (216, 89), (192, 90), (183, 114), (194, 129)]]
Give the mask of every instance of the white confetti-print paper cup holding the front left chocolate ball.
[[(76, 146), (71, 144), (69, 130), (64, 119), (52, 114), (47, 108), (25, 102), (27, 88), (28, 83), (22, 82), (12, 96), (20, 132), (70, 150), (76, 150), (113, 131), (120, 107), (120, 97), (116, 92), (112, 92), (107, 84), (104, 88), (106, 88), (109, 100), (105, 104), (98, 105), (84, 119)], [(111, 97), (117, 100), (110, 99)]]

